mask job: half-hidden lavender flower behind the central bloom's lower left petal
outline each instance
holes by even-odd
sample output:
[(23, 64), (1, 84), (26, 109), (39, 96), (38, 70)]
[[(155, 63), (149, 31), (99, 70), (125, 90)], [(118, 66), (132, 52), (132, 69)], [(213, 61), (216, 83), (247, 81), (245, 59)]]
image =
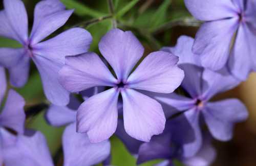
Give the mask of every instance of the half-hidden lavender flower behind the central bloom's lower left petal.
[(110, 156), (110, 141), (92, 144), (87, 134), (76, 132), (76, 113), (80, 102), (73, 97), (70, 99), (68, 106), (51, 105), (46, 113), (52, 126), (68, 125), (62, 135), (64, 166), (90, 166), (102, 162)]

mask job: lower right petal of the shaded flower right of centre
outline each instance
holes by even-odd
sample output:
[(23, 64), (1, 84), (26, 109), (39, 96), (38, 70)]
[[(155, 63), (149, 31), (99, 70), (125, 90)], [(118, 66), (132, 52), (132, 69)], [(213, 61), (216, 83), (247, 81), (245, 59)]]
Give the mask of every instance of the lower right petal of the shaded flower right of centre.
[(230, 140), (234, 124), (248, 117), (245, 105), (237, 99), (207, 103), (202, 112), (212, 136), (222, 141)]

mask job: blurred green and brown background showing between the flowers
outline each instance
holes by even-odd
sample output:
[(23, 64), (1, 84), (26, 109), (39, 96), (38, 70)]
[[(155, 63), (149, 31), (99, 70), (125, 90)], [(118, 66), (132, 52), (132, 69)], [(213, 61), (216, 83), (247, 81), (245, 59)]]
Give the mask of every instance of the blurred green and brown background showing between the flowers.
[[(30, 29), (33, 23), (33, 10), (37, 0), (24, 0), (29, 16)], [(75, 9), (65, 26), (52, 36), (71, 27), (87, 29), (93, 36), (91, 51), (98, 51), (98, 41), (113, 27), (131, 30), (145, 47), (144, 55), (159, 50), (162, 46), (172, 46), (181, 35), (194, 37), (200, 22), (186, 10), (183, 0), (61, 0), (68, 9)], [(110, 2), (112, 4), (110, 5)], [(1, 1), (0, 8), (3, 9)], [(114, 17), (113, 17), (114, 15)], [(1, 22), (0, 22), (1, 23)], [(49, 38), (50, 38), (49, 37)], [(17, 48), (20, 44), (6, 38), (0, 38), (0, 47)], [(39, 74), (31, 64), (30, 78), (26, 86), (16, 89), (26, 100), (26, 109), (47, 102), (42, 90)], [(241, 83), (216, 99), (239, 98), (249, 110), (249, 118), (234, 129), (231, 141), (214, 141), (217, 159), (213, 165), (254, 166), (256, 165), (256, 74), (251, 74)], [(39, 108), (35, 108), (39, 109)], [(45, 134), (55, 163), (61, 165), (61, 134), (63, 128), (49, 126), (44, 119), (45, 110), (38, 110), (27, 119), (27, 127), (40, 130)], [(134, 166), (132, 157), (116, 137), (111, 138), (112, 164)], [(141, 164), (150, 166), (157, 161)]]

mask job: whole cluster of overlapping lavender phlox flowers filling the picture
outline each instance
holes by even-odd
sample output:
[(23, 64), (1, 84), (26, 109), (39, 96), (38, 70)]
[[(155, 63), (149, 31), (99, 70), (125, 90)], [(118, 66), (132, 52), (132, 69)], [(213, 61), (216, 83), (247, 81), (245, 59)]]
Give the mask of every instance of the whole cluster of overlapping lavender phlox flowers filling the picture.
[[(0, 36), (17, 40), (22, 48), (0, 48), (0, 102), (7, 91), (5, 69), (10, 84), (22, 87), (32, 60), (52, 103), (47, 122), (66, 126), (65, 166), (111, 164), (113, 134), (138, 164), (164, 159), (157, 165), (167, 166), (178, 159), (209, 165), (216, 157), (211, 140), (230, 140), (234, 125), (248, 116), (238, 99), (211, 99), (255, 70), (255, 1), (185, 0), (193, 16), (205, 21), (196, 38), (180, 36), (174, 47), (146, 56), (131, 31), (117, 28), (99, 41), (102, 56), (89, 52), (92, 36), (82, 28), (47, 38), (73, 12), (59, 0), (36, 4), (29, 35), (23, 2), (3, 2)], [(25, 129), (24, 106), (10, 89), (0, 114), (0, 165), (54, 165), (44, 135)]]

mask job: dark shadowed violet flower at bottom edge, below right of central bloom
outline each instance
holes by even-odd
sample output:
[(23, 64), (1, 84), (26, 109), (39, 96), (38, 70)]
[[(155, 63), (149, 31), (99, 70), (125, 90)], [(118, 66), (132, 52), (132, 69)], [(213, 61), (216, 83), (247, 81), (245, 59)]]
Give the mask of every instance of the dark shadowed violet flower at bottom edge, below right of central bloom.
[(154, 136), (149, 143), (143, 143), (138, 151), (137, 163), (143, 163), (153, 159), (164, 159), (157, 166), (175, 165), (175, 159), (185, 165), (199, 166), (209, 165), (216, 157), (215, 149), (210, 145), (210, 138), (204, 137), (204, 143), (199, 152), (191, 157), (187, 154), (194, 154), (193, 149), (184, 148), (187, 143), (195, 141), (193, 128), (184, 115), (168, 120), (162, 134)]

